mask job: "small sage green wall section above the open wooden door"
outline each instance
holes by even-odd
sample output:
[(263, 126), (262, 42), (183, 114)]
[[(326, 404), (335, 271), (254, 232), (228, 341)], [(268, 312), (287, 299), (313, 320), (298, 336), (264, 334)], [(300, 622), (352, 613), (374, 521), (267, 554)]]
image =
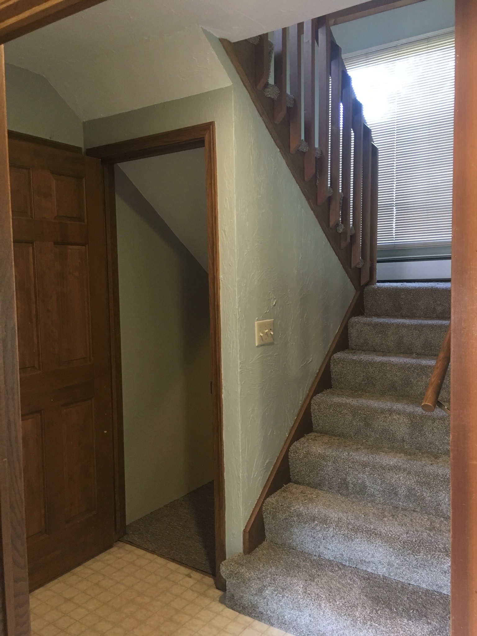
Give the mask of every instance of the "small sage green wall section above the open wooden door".
[(50, 82), (5, 64), (8, 128), (83, 148), (83, 123)]

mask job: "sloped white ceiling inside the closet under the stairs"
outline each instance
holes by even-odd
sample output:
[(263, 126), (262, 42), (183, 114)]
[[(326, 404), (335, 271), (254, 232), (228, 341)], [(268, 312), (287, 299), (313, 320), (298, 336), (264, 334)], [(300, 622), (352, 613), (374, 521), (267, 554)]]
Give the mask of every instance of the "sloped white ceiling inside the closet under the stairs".
[(208, 271), (204, 148), (136, 159), (119, 167)]

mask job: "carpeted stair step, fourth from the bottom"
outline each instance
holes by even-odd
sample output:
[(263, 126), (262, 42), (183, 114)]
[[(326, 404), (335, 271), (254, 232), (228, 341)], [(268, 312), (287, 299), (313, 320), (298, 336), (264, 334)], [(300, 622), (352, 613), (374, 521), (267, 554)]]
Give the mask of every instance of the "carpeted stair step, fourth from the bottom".
[(449, 453), (449, 416), (439, 408), (425, 413), (417, 401), (329, 389), (312, 399), (311, 411), (317, 433), (408, 450)]

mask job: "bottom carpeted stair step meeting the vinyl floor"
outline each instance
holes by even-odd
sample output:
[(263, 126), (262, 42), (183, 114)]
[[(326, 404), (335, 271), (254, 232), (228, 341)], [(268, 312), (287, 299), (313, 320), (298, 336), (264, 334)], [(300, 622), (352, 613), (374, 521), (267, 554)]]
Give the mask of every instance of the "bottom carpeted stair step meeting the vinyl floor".
[(226, 605), (294, 636), (448, 636), (449, 597), (265, 542), (221, 565)]

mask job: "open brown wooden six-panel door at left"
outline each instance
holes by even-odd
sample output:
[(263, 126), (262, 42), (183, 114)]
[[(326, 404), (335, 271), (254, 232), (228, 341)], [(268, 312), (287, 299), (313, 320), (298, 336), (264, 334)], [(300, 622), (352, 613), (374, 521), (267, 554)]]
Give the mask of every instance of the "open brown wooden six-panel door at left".
[(9, 139), (30, 588), (114, 541), (99, 160)]

